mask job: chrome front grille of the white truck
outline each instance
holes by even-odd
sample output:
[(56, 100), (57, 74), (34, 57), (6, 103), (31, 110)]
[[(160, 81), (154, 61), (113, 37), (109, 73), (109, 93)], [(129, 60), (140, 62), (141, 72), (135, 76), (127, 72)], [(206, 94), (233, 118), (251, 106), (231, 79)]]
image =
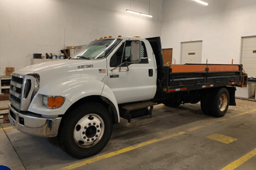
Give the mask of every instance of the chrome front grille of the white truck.
[(18, 110), (28, 110), (33, 95), (33, 87), (33, 76), (12, 73), (9, 96), (12, 106)]

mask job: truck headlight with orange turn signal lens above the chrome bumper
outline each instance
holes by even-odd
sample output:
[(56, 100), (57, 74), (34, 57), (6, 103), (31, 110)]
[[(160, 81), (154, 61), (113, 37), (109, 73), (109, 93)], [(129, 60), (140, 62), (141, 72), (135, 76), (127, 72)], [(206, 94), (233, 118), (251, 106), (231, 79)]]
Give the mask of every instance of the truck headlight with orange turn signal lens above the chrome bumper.
[(65, 98), (61, 96), (43, 96), (43, 106), (50, 109), (56, 109), (64, 104), (64, 100)]

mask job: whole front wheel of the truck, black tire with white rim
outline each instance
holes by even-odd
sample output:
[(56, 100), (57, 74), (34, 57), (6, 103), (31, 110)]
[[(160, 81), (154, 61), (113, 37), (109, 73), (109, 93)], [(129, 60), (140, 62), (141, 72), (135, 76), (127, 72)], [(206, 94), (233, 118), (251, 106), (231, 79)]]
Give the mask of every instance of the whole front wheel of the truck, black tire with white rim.
[[(93, 120), (96, 124), (93, 123)], [(88, 122), (91, 121), (92, 124), (89, 124)], [(84, 124), (84, 126), (82, 124)], [(104, 131), (102, 130), (102, 127), (104, 127)], [(100, 130), (102, 130), (103, 133)], [(98, 133), (100, 137), (98, 136)], [(77, 136), (80, 134), (81, 140), (78, 141)], [(109, 110), (107, 110), (106, 107), (103, 107), (102, 104), (90, 103), (77, 107), (71, 111), (67, 117), (64, 117), (58, 138), (61, 147), (68, 155), (71, 155), (74, 158), (88, 158), (102, 151), (109, 142), (111, 134), (112, 118), (109, 115)], [(87, 141), (82, 141), (83, 138), (89, 140), (88, 145)], [(91, 143), (92, 145), (90, 145)]]

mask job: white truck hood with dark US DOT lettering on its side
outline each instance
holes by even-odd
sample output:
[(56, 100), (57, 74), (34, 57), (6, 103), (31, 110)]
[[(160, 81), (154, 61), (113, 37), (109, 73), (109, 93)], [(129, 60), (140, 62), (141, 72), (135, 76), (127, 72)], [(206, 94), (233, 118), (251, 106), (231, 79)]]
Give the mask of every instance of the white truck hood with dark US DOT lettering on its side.
[(22, 75), (38, 73), (40, 86), (57, 79), (65, 79), (60, 80), (61, 83), (69, 80), (102, 81), (106, 76), (106, 59), (60, 59), (26, 66), (15, 73)]

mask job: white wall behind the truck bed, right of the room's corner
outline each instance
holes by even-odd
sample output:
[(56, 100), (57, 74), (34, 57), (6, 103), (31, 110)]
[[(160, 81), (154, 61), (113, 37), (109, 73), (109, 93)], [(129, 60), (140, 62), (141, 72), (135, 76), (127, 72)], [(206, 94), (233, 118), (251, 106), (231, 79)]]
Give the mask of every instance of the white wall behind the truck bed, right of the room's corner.
[(206, 2), (164, 0), (162, 47), (173, 48), (173, 58), (181, 63), (181, 42), (202, 40), (202, 63), (240, 63), (241, 37), (256, 35), (256, 1)]

